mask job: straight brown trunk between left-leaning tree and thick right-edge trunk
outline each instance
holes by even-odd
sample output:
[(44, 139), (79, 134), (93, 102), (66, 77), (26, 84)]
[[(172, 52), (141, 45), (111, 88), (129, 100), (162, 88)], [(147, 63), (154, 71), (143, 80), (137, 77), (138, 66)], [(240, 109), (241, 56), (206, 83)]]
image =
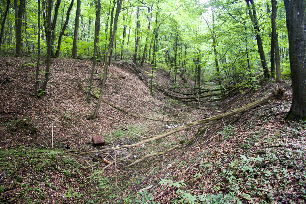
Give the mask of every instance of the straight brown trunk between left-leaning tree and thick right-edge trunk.
[[(278, 34), (276, 33), (276, 0), (272, 1), (272, 39), (274, 40), (274, 54), (275, 54), (275, 65), (276, 65), (276, 82), (282, 81), (282, 72), (279, 58), (279, 48), (278, 48)], [(272, 46), (271, 46), (272, 51)], [(271, 62), (272, 63), (272, 62)], [(272, 66), (271, 66), (272, 68)], [(272, 75), (272, 69), (271, 69)]]

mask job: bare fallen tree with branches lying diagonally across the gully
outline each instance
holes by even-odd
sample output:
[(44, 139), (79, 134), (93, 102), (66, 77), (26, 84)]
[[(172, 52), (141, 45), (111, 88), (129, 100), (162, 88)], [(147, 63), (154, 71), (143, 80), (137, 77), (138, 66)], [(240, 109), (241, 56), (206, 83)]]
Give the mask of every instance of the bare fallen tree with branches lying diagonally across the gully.
[[(129, 161), (129, 160), (127, 160), (127, 159), (130, 158), (130, 157), (132, 156), (132, 154), (136, 151), (137, 147), (139, 147), (139, 146), (142, 145), (142, 144), (145, 144), (145, 143), (148, 143), (148, 142), (152, 142), (152, 141), (155, 141), (155, 140), (157, 140), (157, 139), (165, 138), (165, 137), (167, 137), (167, 136), (169, 136), (169, 135), (172, 135), (172, 134), (174, 134), (174, 133), (176, 133), (176, 132), (180, 132), (180, 131), (182, 131), (182, 130), (185, 130), (185, 129), (194, 127), (194, 126), (196, 126), (196, 125), (208, 123), (208, 122), (210, 122), (210, 121), (218, 121), (218, 120), (220, 120), (220, 119), (228, 118), (228, 117), (231, 117), (231, 116), (236, 115), (236, 114), (238, 114), (238, 113), (243, 113), (243, 112), (245, 112), (245, 111), (247, 111), (247, 110), (250, 110), (250, 109), (253, 109), (253, 108), (257, 107), (257, 106), (260, 106), (261, 104), (263, 104), (263, 103), (265, 103), (265, 102), (267, 102), (267, 101), (269, 101), (269, 100), (272, 100), (272, 99), (275, 99), (275, 98), (282, 99), (282, 98), (284, 98), (283, 94), (284, 94), (284, 89), (283, 89), (282, 87), (280, 87), (280, 86), (277, 86), (275, 91), (273, 91), (271, 94), (269, 94), (269, 95), (267, 95), (267, 96), (265, 96), (265, 97), (259, 99), (258, 101), (252, 102), (252, 103), (250, 103), (250, 104), (248, 104), (248, 105), (245, 105), (245, 106), (243, 106), (243, 107), (240, 107), (240, 108), (237, 108), (237, 109), (234, 109), (234, 110), (230, 110), (230, 111), (228, 111), (228, 112), (226, 112), (226, 113), (222, 113), (222, 114), (219, 114), (219, 115), (216, 115), (216, 116), (213, 116), (213, 117), (205, 118), (205, 119), (203, 119), (203, 120), (200, 120), (200, 121), (196, 121), (196, 122), (187, 124), (187, 125), (185, 125), (185, 126), (183, 126), (183, 127), (176, 128), (176, 129), (174, 129), (174, 130), (171, 130), (171, 131), (169, 131), (169, 132), (166, 132), (166, 133), (163, 133), (163, 134), (160, 134), (160, 135), (155, 135), (155, 136), (145, 137), (145, 138), (143, 137), (144, 140), (142, 140), (142, 141), (140, 141), (140, 142), (138, 142), (138, 143), (129, 144), (129, 145), (123, 145), (123, 146), (120, 146), (120, 147), (106, 148), (106, 149), (97, 150), (97, 151), (82, 152), (82, 153), (79, 153), (79, 154), (77, 154), (77, 155), (80, 156), (80, 155), (83, 155), (83, 154), (93, 154), (93, 153), (106, 152), (106, 151), (111, 151), (111, 152), (112, 152), (112, 151), (120, 150), (120, 149), (123, 149), (123, 148), (125, 148), (125, 149), (126, 149), (126, 148), (133, 148), (132, 152), (131, 152), (128, 156), (126, 156), (126, 157), (124, 157), (124, 158), (114, 159), (114, 161), (112, 161), (110, 164), (108, 164), (108, 165), (107, 165), (106, 167), (104, 167), (103, 169), (105, 169), (105, 168), (107, 168), (108, 166), (110, 166), (110, 165), (116, 163), (117, 161), (127, 161), (127, 162), (130, 162), (130, 164), (126, 166), (126, 167), (130, 167), (130, 166), (132, 166), (132, 165), (137, 164), (137, 163), (140, 162), (140, 161), (143, 161), (143, 160), (146, 159), (146, 158), (149, 158), (149, 157), (152, 157), (152, 156), (156, 156), (156, 155), (165, 154), (165, 153), (170, 152), (170, 151), (172, 151), (172, 150), (174, 150), (174, 149), (176, 149), (176, 148), (178, 148), (178, 147), (181, 146), (181, 145), (177, 145), (177, 146), (172, 147), (172, 148), (170, 148), (170, 149), (168, 149), (168, 150), (166, 150), (166, 151), (162, 151), (162, 152), (159, 152), (159, 153), (153, 153), (153, 154), (147, 154), (147, 155), (145, 155), (144, 157), (142, 157), (142, 158), (140, 158), (140, 159), (138, 159), (138, 160), (136, 160), (136, 161)], [(217, 123), (217, 122), (216, 122), (216, 123)], [(209, 127), (211, 127), (211, 126), (209, 126)], [(203, 131), (206, 132), (206, 131), (207, 131), (207, 128), (204, 129)], [(203, 132), (202, 132), (202, 133), (203, 133)], [(110, 154), (110, 153), (109, 153), (109, 154)]]

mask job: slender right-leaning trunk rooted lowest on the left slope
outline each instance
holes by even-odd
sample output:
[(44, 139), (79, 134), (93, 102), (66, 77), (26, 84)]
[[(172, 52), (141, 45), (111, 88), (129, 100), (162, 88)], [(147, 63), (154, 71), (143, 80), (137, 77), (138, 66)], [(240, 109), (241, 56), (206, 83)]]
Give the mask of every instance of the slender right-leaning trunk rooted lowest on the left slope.
[[(110, 57), (110, 50), (111, 50), (111, 48), (113, 47), (113, 43), (114, 43), (116, 31), (117, 31), (117, 21), (118, 21), (120, 9), (121, 9), (122, 1), (123, 1), (123, 0), (120, 0), (120, 2), (118, 3), (118, 7), (117, 7), (115, 19), (114, 19), (114, 31), (113, 31), (113, 34), (112, 34), (112, 36), (111, 36), (111, 38), (110, 38), (110, 43), (109, 43), (109, 45), (108, 45), (107, 55), (106, 55), (106, 61), (108, 61), (108, 58)], [(100, 104), (101, 104), (101, 100), (102, 100), (102, 96), (103, 96), (103, 91), (104, 91), (104, 87), (105, 87), (107, 69), (108, 69), (108, 63), (105, 63), (105, 64), (104, 64), (104, 72), (103, 72), (102, 87), (101, 87), (101, 90), (100, 90), (100, 96), (99, 96), (99, 100), (98, 100), (97, 106), (96, 106), (96, 108), (95, 108), (95, 111), (94, 111), (94, 113), (91, 115), (91, 119), (95, 119), (95, 118), (97, 117), (97, 114), (98, 114), (98, 111), (99, 111), (99, 108), (100, 108)]]

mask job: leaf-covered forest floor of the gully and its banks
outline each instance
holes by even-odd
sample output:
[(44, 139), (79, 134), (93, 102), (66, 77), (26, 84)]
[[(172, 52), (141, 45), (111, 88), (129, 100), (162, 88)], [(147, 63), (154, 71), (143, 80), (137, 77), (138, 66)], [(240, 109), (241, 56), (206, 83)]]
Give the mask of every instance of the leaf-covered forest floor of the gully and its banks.
[[(196, 109), (156, 90), (152, 97), (129, 64), (114, 61), (103, 94), (112, 106), (102, 102), (97, 118), (91, 120), (97, 99), (91, 97), (87, 103), (80, 88), (88, 88), (91, 61), (52, 59), (47, 90), (39, 99), (34, 98), (35, 62), (29, 57), (0, 59), (1, 203), (306, 202), (306, 123), (283, 121), (292, 100), (289, 81), (280, 84), (287, 100), (271, 100), (224, 119), (191, 145), (187, 142), (205, 124), (145, 143), (129, 161), (103, 170), (105, 160), (111, 162), (131, 150), (80, 153), (137, 143), (142, 140), (139, 135), (159, 135), (244, 106), (271, 93), (277, 84), (261, 79), (257, 91), (245, 88)], [(42, 62), (40, 69), (44, 68)], [(148, 66), (141, 69), (150, 71)], [(173, 83), (168, 73), (157, 69), (156, 84)], [(43, 80), (43, 71), (40, 74)], [(102, 74), (99, 64), (95, 95)], [(191, 80), (187, 84), (193, 86)], [(178, 85), (184, 84), (179, 80)], [(95, 135), (103, 135), (105, 146), (92, 146)], [(182, 147), (125, 168), (182, 141), (186, 142)]]

